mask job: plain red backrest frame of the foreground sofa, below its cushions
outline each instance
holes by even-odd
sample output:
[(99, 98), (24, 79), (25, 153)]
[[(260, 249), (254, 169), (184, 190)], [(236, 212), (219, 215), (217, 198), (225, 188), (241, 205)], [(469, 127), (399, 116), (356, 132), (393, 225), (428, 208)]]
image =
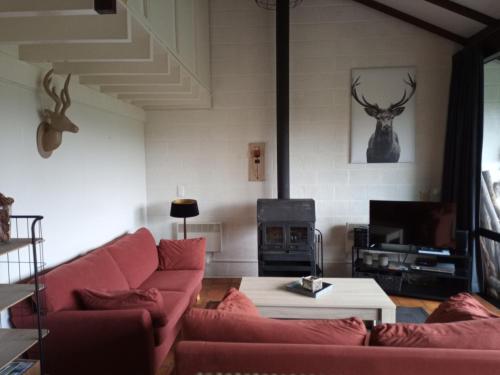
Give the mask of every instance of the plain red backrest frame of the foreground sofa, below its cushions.
[(495, 375), (500, 351), (183, 341), (176, 375)]

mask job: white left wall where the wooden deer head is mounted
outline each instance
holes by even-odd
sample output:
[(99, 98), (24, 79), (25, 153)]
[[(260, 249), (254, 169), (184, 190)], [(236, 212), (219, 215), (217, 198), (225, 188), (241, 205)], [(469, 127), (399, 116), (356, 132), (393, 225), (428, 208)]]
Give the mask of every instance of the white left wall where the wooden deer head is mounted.
[[(47, 266), (144, 225), (144, 112), (80, 86), (75, 77), (67, 114), (80, 132), (65, 133), (61, 147), (42, 159), (36, 145), (38, 111), (53, 108), (40, 89), (46, 69), (6, 51), (9, 55), (0, 52), (0, 192), (15, 198), (14, 214), (45, 217)], [(26, 257), (23, 250), (21, 258)], [(17, 270), (11, 271), (16, 279)], [(6, 277), (2, 264), (0, 282)]]

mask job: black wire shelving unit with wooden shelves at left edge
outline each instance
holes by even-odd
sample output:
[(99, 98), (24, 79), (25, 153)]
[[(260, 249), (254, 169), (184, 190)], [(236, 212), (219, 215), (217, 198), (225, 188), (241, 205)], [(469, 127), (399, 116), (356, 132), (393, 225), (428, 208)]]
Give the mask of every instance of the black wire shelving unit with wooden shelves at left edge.
[[(43, 338), (48, 334), (42, 329), (42, 297), (39, 275), (45, 267), (43, 256), (43, 216), (13, 215), (12, 238), (0, 242), (0, 266), (6, 271), (6, 280), (0, 284), (0, 311), (33, 298), (36, 306), (35, 329), (0, 329), (0, 369), (29, 349), (37, 346), (40, 371), (44, 374)], [(30, 280), (29, 284), (15, 282)], [(2, 281), (3, 282), (3, 281)]]

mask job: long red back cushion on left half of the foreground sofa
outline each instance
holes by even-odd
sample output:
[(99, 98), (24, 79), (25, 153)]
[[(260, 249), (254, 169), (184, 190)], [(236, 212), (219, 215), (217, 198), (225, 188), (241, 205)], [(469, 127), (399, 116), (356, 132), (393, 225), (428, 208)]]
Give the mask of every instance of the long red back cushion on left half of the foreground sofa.
[(183, 323), (184, 337), (196, 341), (363, 345), (366, 337), (358, 318), (275, 320), (195, 308)]

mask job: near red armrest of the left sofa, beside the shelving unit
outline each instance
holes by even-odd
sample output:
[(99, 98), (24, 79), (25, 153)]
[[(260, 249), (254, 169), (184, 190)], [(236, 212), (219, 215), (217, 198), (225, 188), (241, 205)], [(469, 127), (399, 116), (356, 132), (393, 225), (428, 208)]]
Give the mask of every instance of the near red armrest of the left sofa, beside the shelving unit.
[(43, 319), (50, 374), (154, 374), (151, 315), (143, 309), (59, 311)]

